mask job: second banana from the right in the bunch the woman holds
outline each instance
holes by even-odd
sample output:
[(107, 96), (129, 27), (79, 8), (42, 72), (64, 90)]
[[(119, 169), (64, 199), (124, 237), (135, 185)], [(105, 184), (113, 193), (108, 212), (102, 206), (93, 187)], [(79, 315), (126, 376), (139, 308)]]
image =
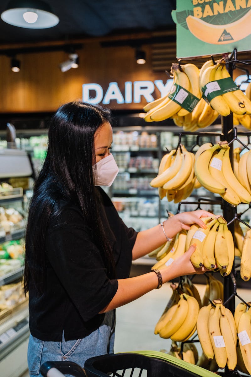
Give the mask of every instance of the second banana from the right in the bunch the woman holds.
[(216, 265), (221, 270), (225, 270), (228, 267), (228, 249), (224, 232), (224, 224), (219, 225), (218, 232), (215, 238), (214, 244), (214, 257), (216, 260)]

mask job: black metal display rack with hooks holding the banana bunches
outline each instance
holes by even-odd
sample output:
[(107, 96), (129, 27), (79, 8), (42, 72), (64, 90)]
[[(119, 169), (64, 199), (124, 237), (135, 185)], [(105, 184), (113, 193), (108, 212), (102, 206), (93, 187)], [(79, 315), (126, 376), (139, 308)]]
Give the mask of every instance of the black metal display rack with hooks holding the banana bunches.
[[(246, 82), (248, 82), (249, 71), (247, 69), (243, 68), (243, 67), (240, 67), (239, 65), (237, 66), (236, 63), (240, 63), (240, 64), (244, 64), (244, 65), (250, 65), (251, 60), (248, 60), (248, 61), (238, 60), (237, 59), (237, 49), (233, 50), (230, 57), (228, 57), (228, 54), (225, 54), (224, 57), (226, 59), (226, 65), (228, 66), (228, 72), (230, 73), (231, 77), (233, 77), (233, 70), (235, 68), (238, 68), (240, 70), (243, 70), (246, 73), (246, 75), (247, 75)], [(213, 63), (215, 64), (213, 56), (211, 56), (211, 59), (212, 59)], [(180, 65), (181, 61), (186, 61), (186, 60), (180, 59), (178, 61), (179, 65)], [(188, 61), (190, 61), (190, 60), (188, 60)], [(238, 143), (240, 143), (243, 146), (243, 148), (250, 150), (251, 149), (251, 139), (250, 139), (251, 132), (237, 132), (237, 128), (233, 127), (233, 114), (232, 113), (230, 113), (230, 115), (225, 116), (225, 117), (221, 116), (221, 128), (222, 128), (221, 133), (220, 132), (218, 132), (218, 133), (217, 132), (193, 132), (193, 135), (197, 135), (197, 138), (196, 138), (196, 143), (193, 144), (192, 148), (190, 149), (190, 152), (192, 152), (192, 150), (196, 146), (201, 146), (199, 141), (202, 137), (207, 136), (207, 137), (212, 137), (212, 138), (219, 138), (220, 141), (226, 140), (228, 142), (228, 146), (230, 146), (230, 162), (231, 162), (231, 165), (233, 166), (233, 143), (234, 143), (234, 141), (237, 141)], [(191, 133), (190, 132), (181, 132), (179, 134), (179, 140), (178, 140), (178, 145), (177, 145), (176, 150), (178, 150), (178, 148), (181, 145), (183, 135), (191, 135)], [(243, 143), (243, 141), (240, 140), (238, 138), (238, 136), (246, 136), (247, 137), (247, 143), (246, 144)], [(196, 204), (197, 205), (196, 209), (201, 209), (201, 205), (205, 205), (205, 204), (211, 204), (211, 205), (218, 204), (218, 205), (220, 205), (221, 209), (222, 209), (222, 215), (225, 218), (225, 220), (227, 221), (228, 229), (231, 231), (233, 239), (234, 239), (234, 223), (236, 221), (239, 221), (242, 224), (245, 224), (246, 227), (251, 228), (251, 226), (249, 224), (247, 224), (245, 221), (243, 221), (241, 219), (241, 216), (247, 210), (249, 210), (249, 208), (251, 208), (251, 204), (249, 204), (249, 205), (247, 204), (248, 207), (242, 213), (237, 213), (237, 208), (235, 206), (229, 204), (228, 202), (226, 202), (223, 198), (220, 198), (220, 200), (211, 200), (211, 199), (208, 199), (208, 198), (199, 198), (198, 201), (194, 201), (194, 202), (181, 201), (178, 205), (177, 213), (180, 212), (180, 208), (181, 208), (182, 205), (187, 205), (187, 204)], [(192, 279), (193, 279), (193, 276), (192, 276), (191, 280)], [(179, 284), (181, 285), (181, 287), (182, 287), (182, 280), (183, 280), (183, 277), (180, 278)], [(250, 307), (250, 305), (248, 303), (246, 303), (245, 300), (243, 300), (242, 297), (240, 297), (237, 294), (235, 262), (233, 264), (233, 268), (232, 268), (231, 273), (228, 276), (224, 277), (223, 281), (224, 281), (224, 306), (225, 307), (230, 309), (231, 312), (234, 314), (235, 297), (238, 297), (243, 303), (245, 303), (248, 307)], [(183, 359), (184, 344), (185, 343), (199, 342), (199, 340), (195, 339), (196, 337), (197, 337), (197, 334), (195, 334), (192, 337), (191, 340), (187, 340), (186, 342), (181, 342), (181, 358), (182, 359)], [(239, 374), (239, 372), (237, 370), (230, 372), (228, 370), (227, 366), (225, 367), (224, 375), (241, 376), (241, 374)]]

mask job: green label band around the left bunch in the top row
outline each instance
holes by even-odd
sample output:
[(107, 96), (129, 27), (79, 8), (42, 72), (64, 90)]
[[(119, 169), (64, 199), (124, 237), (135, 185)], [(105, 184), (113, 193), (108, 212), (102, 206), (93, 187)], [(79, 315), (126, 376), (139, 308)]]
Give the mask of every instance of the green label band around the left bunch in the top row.
[(168, 97), (190, 113), (199, 102), (198, 97), (178, 84), (173, 84)]

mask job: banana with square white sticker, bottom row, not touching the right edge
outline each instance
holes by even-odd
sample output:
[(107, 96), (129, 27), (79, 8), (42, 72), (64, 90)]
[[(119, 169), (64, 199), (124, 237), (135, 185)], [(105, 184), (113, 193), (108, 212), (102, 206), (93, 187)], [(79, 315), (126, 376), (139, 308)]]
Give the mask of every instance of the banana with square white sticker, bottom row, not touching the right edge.
[(221, 334), (219, 315), (220, 304), (216, 303), (214, 313), (208, 318), (208, 333), (213, 346), (216, 363), (218, 364), (219, 368), (223, 369), (227, 364), (227, 352), (224, 339)]

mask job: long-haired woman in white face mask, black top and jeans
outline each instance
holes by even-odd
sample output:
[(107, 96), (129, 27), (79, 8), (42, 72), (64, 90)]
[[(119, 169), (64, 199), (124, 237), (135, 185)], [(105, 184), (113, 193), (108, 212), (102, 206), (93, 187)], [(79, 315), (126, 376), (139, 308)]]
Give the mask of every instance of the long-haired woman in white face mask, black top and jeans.
[(49, 127), (43, 168), (35, 183), (26, 231), (25, 291), (29, 291), (30, 375), (48, 360), (84, 366), (113, 352), (115, 309), (195, 270), (187, 253), (161, 272), (128, 278), (131, 261), (159, 247), (206, 211), (180, 213), (146, 231), (126, 227), (99, 185), (118, 168), (110, 154), (110, 112), (72, 102)]

